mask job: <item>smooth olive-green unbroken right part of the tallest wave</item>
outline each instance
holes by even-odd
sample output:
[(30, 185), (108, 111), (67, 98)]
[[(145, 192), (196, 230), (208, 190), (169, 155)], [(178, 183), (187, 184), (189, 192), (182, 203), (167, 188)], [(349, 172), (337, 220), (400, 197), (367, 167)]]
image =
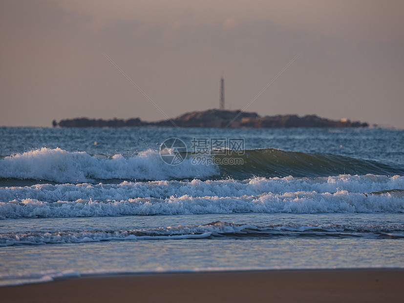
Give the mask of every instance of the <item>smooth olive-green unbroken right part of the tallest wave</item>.
[[(214, 155), (219, 159), (223, 155)], [(385, 164), (372, 160), (355, 159), (331, 153), (304, 153), (278, 149), (233, 151), (231, 157), (242, 159), (243, 165), (220, 165), (222, 176), (235, 179), (263, 176), (319, 177), (339, 174), (404, 174), (404, 166)]]

